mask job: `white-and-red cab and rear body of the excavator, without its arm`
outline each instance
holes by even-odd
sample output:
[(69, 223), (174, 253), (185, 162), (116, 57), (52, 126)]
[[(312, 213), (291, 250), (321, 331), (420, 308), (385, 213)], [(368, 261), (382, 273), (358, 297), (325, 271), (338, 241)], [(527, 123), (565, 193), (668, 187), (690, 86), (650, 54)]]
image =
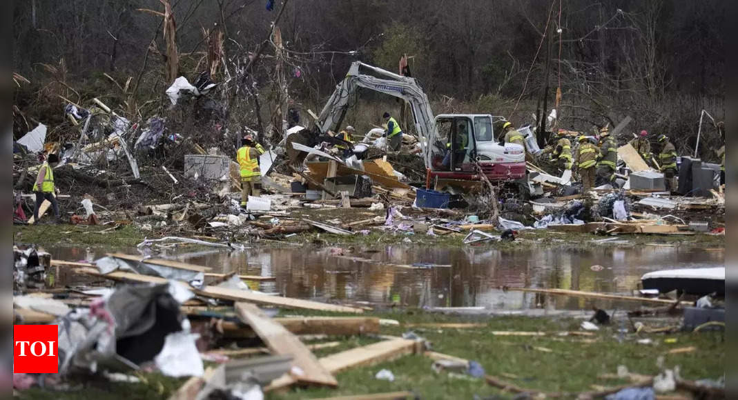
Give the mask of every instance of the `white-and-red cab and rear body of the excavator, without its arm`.
[(500, 144), (489, 114), (441, 114), (435, 117), (438, 135), (432, 143), (432, 178), (478, 180), (474, 161), (492, 181), (525, 177), (525, 148)]

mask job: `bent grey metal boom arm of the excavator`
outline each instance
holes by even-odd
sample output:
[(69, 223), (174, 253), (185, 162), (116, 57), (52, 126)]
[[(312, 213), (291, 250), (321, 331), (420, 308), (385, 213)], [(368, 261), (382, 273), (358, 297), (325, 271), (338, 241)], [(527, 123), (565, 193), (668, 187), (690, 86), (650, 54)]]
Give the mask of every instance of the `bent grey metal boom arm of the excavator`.
[[(365, 68), (381, 77), (373, 75), (361, 74), (359, 69)], [(384, 69), (370, 66), (360, 61), (351, 63), (346, 77), (336, 85), (336, 90), (328, 99), (328, 102), (320, 111), (317, 119), (317, 129), (320, 133), (326, 133), (328, 130), (337, 130), (342, 123), (348, 108), (354, 105), (356, 101), (356, 91), (358, 88), (365, 88), (370, 91), (388, 94), (398, 97), (410, 104), (410, 110), (413, 113), (413, 123), (415, 130), (418, 132), (418, 141), (421, 143), (423, 150), (423, 158), (426, 166), (430, 166), (431, 146), (437, 136), (435, 132), (435, 122), (430, 102), (425, 95), (423, 89), (415, 82), (414, 78), (404, 77)]]

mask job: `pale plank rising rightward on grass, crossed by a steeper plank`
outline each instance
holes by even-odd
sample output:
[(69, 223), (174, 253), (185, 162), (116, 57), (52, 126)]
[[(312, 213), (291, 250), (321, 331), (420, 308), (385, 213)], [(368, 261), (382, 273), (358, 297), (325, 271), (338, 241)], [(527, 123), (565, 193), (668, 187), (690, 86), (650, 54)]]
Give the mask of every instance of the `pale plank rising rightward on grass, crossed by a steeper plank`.
[[(401, 337), (383, 342), (372, 343), (362, 347), (351, 348), (340, 353), (331, 354), (320, 359), (320, 364), (331, 373), (339, 373), (348, 368), (360, 365), (373, 365), (378, 362), (389, 361), (406, 354), (413, 354), (418, 342), (415, 340), (402, 339)], [(264, 387), (264, 392), (287, 387), (294, 383), (289, 375), (283, 375), (275, 379), (269, 386)]]

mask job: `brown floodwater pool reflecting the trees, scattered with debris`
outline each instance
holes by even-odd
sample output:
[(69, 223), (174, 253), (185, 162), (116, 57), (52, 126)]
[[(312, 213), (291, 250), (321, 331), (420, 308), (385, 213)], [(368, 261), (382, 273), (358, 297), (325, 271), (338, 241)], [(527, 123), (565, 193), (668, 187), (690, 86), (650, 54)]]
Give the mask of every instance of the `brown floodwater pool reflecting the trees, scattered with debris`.
[[(102, 251), (47, 248), (54, 259), (88, 260)], [(393, 245), (362, 248), (335, 256), (331, 248), (258, 248), (244, 251), (167, 250), (163, 256), (212, 267), (212, 272), (274, 276), (258, 289), (318, 301), (390, 303), (419, 307), (483, 306), (491, 310), (584, 309), (582, 298), (503, 292), (500, 287), (538, 287), (632, 294), (641, 276), (653, 270), (723, 266), (723, 249), (642, 245), (616, 248), (426, 248)], [(136, 254), (135, 249), (127, 253)], [(383, 264), (385, 263), (385, 264)], [(418, 263), (450, 267), (416, 268)], [(591, 268), (593, 265), (603, 267)], [(72, 282), (60, 270), (60, 284)], [(66, 276), (66, 278), (65, 278)], [(252, 283), (249, 286), (255, 285)], [(253, 286), (252, 286), (253, 287)], [(613, 306), (613, 303), (602, 303)], [(618, 303), (632, 308), (638, 303)]]

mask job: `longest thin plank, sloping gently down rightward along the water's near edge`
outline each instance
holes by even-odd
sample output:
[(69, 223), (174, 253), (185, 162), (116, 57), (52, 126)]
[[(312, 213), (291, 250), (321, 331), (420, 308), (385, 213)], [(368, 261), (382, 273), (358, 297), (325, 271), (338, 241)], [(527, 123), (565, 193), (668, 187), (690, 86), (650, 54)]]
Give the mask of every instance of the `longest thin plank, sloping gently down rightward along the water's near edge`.
[[(137, 281), (137, 282), (148, 282), (153, 284), (165, 284), (168, 282), (165, 278), (159, 278), (158, 276), (146, 276), (139, 275), (137, 273), (126, 273), (122, 271), (114, 271), (108, 274), (102, 274), (100, 271), (94, 268), (78, 268), (78, 272), (86, 273), (92, 276), (100, 276), (101, 278), (113, 279), (116, 281)], [(213, 287), (206, 286), (203, 290), (196, 290), (190, 287), (190, 285), (184, 282), (179, 282), (189, 290), (193, 290), (198, 295), (203, 295), (211, 298), (220, 298), (223, 300), (232, 301), (250, 301), (252, 303), (265, 304), (269, 306), (283, 307), (286, 309), (314, 309), (317, 311), (331, 311), (331, 312), (353, 312), (361, 314), (364, 312), (362, 309), (356, 309), (354, 307), (338, 306), (334, 304), (319, 303), (317, 301), (303, 300), (299, 298), (286, 298), (279, 296), (263, 295), (261, 293), (246, 292), (246, 290), (235, 290), (227, 289), (224, 287)]]

